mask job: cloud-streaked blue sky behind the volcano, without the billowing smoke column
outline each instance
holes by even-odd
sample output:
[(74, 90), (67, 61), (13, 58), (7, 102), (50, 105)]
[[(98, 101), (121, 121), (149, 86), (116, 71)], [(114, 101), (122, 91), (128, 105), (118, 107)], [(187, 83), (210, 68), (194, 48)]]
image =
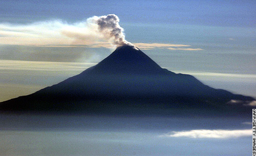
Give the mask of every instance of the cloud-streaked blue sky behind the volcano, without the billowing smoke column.
[(88, 20), (115, 14), (162, 68), (256, 97), (254, 1), (1, 1), (0, 101), (77, 75), (115, 47)]

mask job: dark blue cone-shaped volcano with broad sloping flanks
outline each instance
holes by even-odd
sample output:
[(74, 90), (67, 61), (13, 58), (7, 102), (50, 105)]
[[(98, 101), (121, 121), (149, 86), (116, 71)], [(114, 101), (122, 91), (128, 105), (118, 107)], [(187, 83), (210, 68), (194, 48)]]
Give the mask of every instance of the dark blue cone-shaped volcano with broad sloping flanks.
[(137, 110), (140, 114), (157, 109), (158, 113), (161, 110), (168, 114), (167, 110), (183, 108), (226, 111), (222, 108), (231, 100), (239, 101), (235, 109), (240, 109), (255, 99), (211, 88), (191, 75), (162, 69), (142, 51), (122, 46), (79, 75), (2, 102), (0, 108), (89, 114), (133, 114)]

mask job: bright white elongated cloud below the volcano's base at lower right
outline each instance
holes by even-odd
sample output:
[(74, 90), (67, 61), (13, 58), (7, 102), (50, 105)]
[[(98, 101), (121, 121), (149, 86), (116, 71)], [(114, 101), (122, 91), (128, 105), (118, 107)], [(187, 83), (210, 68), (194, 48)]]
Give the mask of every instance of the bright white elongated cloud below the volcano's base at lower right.
[(252, 129), (241, 129), (241, 130), (224, 130), (224, 129), (196, 129), (188, 131), (172, 131), (161, 137), (186, 137), (186, 138), (239, 138), (252, 136)]

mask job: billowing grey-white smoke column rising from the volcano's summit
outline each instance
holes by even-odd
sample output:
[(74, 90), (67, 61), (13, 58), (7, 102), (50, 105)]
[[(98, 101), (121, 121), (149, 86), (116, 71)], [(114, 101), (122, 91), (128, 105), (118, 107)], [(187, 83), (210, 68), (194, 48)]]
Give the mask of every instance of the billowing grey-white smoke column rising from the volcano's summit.
[(102, 35), (102, 38), (110, 41), (116, 46), (129, 45), (135, 47), (132, 43), (125, 40), (123, 28), (119, 25), (119, 18), (115, 14), (106, 16), (94, 16), (88, 19), (88, 22), (98, 26), (98, 33)]

